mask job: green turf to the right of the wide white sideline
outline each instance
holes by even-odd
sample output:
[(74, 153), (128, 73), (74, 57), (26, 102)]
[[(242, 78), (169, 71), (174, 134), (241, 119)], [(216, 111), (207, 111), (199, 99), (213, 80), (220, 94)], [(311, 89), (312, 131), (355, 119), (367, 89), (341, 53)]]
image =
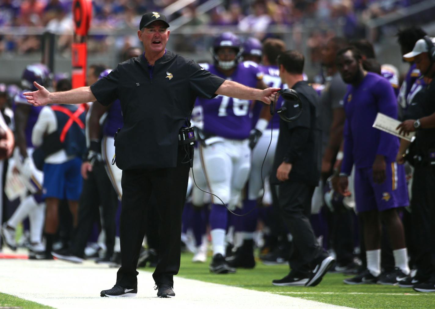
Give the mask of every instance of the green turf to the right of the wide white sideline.
[(191, 254), (181, 255), (178, 276), (352, 308), (435, 308), (435, 293), (419, 293), (378, 284), (349, 286), (342, 282), (346, 278), (343, 274), (326, 274), (315, 287), (280, 287), (272, 286), (271, 281), (288, 274), (286, 265), (265, 266), (257, 261), (255, 269), (238, 269), (235, 274), (215, 275), (208, 270), (210, 257), (204, 264), (194, 264), (191, 259)]

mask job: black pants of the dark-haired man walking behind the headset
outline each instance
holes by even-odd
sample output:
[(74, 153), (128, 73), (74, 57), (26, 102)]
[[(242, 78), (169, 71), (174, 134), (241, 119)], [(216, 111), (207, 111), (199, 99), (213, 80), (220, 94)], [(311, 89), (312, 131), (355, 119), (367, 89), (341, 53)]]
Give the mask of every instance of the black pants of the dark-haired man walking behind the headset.
[(292, 270), (307, 272), (312, 262), (323, 254), (310, 220), (314, 186), (305, 183), (283, 182), (278, 185), (278, 203), (281, 215), (291, 235), (293, 250), (289, 264)]

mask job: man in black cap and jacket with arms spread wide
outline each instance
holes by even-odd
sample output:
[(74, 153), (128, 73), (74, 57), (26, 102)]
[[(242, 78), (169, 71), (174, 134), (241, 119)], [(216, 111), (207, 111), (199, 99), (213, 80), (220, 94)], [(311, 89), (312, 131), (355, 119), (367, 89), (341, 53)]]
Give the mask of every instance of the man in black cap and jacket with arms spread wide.
[(180, 268), (181, 212), (190, 167), (184, 159), (186, 153), (178, 147), (178, 132), (190, 124), (196, 97), (221, 94), (269, 104), (279, 90), (258, 90), (224, 80), (193, 60), (166, 50), (168, 27), (164, 15), (146, 13), (137, 31), (145, 49), (141, 56), (118, 64), (90, 87), (50, 93), (35, 83), (39, 90), (25, 93), (34, 106), (121, 102), (124, 127), (115, 137), (116, 164), (123, 170), (121, 267), (115, 286), (101, 291), (101, 296), (136, 296), (136, 265), (151, 191), (160, 212), (160, 255), (153, 274), (157, 296), (175, 296), (173, 276)]

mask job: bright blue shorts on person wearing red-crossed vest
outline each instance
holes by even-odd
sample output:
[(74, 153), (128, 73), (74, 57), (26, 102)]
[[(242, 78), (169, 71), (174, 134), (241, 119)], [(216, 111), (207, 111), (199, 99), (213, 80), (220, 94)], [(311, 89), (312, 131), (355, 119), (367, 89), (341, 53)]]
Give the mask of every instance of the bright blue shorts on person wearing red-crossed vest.
[(82, 160), (79, 157), (60, 164), (44, 164), (43, 198), (55, 197), (78, 201), (83, 179), (80, 175)]

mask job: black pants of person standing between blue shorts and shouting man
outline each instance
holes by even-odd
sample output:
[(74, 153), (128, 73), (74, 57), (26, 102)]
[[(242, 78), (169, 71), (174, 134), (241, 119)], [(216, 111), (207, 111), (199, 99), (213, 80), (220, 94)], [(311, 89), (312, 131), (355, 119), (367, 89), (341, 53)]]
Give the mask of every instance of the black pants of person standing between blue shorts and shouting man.
[(99, 206), (102, 206), (103, 229), (106, 233), (107, 256), (113, 254), (115, 245), (115, 213), (118, 198), (107, 176), (103, 163), (95, 164), (87, 173), (80, 196), (77, 232), (72, 243), (71, 253), (83, 257), (84, 248), (95, 220), (99, 220)]

